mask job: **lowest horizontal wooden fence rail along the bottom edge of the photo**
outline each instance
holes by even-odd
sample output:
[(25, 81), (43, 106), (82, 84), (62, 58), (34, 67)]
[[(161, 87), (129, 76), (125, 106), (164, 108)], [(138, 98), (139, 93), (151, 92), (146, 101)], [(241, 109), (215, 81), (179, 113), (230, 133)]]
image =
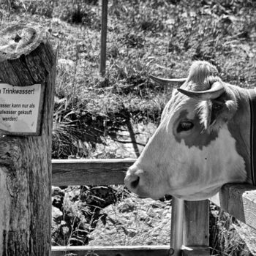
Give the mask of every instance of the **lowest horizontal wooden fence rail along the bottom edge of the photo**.
[(53, 246), (52, 256), (168, 256), (169, 246)]

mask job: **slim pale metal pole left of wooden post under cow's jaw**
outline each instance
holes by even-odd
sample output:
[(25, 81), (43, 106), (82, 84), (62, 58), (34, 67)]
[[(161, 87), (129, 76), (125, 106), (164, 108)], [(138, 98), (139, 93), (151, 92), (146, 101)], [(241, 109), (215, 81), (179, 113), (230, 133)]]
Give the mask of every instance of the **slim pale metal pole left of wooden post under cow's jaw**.
[(173, 197), (172, 218), (170, 227), (170, 248), (173, 252), (170, 255), (180, 256), (183, 242), (183, 219), (184, 219), (184, 200)]

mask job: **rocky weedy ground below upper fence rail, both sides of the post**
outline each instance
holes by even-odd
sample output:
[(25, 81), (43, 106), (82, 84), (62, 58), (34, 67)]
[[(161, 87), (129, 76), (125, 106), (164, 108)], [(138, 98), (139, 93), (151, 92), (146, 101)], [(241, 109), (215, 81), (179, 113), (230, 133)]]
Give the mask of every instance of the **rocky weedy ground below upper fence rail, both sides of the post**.
[[(170, 198), (140, 199), (121, 186), (53, 187), (52, 192), (53, 245), (170, 244)], [(256, 255), (255, 241), (255, 230), (211, 204), (211, 255)]]

